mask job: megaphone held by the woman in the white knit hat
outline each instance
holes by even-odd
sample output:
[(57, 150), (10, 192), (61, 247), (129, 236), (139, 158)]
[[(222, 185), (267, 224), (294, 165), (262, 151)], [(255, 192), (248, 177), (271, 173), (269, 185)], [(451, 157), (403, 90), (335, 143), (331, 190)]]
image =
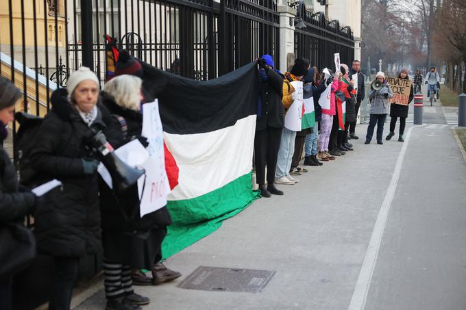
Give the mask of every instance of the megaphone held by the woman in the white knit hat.
[(145, 170), (132, 168), (114, 153), (113, 147), (102, 131), (91, 129), (86, 144), (99, 154), (99, 159), (112, 177), (113, 190), (118, 194), (131, 188), (144, 175)]

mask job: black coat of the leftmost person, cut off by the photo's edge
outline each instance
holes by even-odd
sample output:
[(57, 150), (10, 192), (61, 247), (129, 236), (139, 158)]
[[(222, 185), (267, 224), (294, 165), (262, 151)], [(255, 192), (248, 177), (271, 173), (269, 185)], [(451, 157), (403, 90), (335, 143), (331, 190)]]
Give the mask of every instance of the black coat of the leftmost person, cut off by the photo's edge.
[(0, 138), (0, 225), (21, 222), (32, 211), (36, 201), (32, 192), (19, 191), (16, 170), (2, 145), (3, 139)]

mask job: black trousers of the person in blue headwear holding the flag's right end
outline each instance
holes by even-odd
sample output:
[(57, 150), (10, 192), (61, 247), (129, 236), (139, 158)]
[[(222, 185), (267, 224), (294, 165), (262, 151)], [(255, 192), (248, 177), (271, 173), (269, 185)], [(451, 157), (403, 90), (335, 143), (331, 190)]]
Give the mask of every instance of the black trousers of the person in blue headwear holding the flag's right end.
[(256, 131), (254, 138), (254, 160), (256, 163), (256, 183), (265, 184), (265, 166), (267, 165), (267, 183), (275, 181), (278, 150), (282, 139), (282, 129), (267, 127)]

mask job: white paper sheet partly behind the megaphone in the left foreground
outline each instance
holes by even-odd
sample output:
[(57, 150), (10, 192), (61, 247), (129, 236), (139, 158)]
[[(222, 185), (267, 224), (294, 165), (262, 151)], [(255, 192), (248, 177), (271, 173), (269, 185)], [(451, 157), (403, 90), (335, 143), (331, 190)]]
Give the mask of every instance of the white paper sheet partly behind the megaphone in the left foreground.
[[(121, 159), (121, 161), (131, 167), (143, 166), (144, 162), (147, 160), (147, 158), (149, 158), (149, 153), (147, 153), (143, 144), (140, 144), (139, 140), (132, 140), (127, 144), (116, 148), (114, 152), (115, 155)], [(108, 172), (107, 168), (103, 166), (102, 163), (99, 164), (97, 172), (99, 172), (99, 175), (108, 185), (108, 187), (113, 188), (110, 172)], [(141, 177), (141, 179), (144, 179), (144, 176)]]

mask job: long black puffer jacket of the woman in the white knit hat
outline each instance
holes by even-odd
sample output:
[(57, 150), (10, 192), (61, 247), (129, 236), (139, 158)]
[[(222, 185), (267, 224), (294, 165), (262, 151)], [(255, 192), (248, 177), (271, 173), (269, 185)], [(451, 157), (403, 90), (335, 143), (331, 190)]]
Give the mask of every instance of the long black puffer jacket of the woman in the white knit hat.
[[(31, 155), (33, 168), (45, 181), (62, 181), (46, 194), (45, 206), (36, 211), (35, 229), (38, 251), (58, 257), (84, 257), (100, 248), (99, 188), (97, 172), (85, 175), (82, 158), (95, 158), (84, 144), (89, 127), (66, 99), (61, 88), (52, 94), (53, 108), (37, 134)], [(108, 110), (98, 105), (99, 114), (92, 127), (103, 130), (112, 144), (116, 127)]]

